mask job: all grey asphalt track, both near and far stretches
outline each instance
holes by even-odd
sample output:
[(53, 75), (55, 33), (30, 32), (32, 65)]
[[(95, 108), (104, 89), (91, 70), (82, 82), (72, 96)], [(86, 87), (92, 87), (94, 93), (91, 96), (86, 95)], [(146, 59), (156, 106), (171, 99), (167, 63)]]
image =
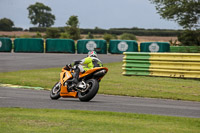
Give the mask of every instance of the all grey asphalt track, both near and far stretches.
[[(0, 72), (62, 67), (79, 54), (0, 53)], [(99, 55), (104, 62), (122, 61), (123, 55)], [(97, 95), (90, 102), (74, 98), (51, 100), (49, 91), (0, 87), (0, 107), (113, 111), (200, 118), (200, 102)]]

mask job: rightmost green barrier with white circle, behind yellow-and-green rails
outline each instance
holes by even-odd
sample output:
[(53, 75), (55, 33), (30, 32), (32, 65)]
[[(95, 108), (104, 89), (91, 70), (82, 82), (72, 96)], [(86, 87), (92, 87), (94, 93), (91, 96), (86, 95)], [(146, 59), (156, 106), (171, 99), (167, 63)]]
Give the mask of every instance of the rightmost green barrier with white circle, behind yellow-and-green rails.
[(140, 52), (170, 52), (168, 42), (143, 42), (140, 43)]

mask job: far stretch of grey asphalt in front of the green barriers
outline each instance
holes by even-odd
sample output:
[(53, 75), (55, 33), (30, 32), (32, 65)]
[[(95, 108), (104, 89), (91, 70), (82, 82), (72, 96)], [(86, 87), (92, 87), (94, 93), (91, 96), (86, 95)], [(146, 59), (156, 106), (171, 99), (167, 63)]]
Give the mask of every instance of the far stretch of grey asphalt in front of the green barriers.
[[(87, 54), (0, 53), (0, 72), (63, 67)], [(103, 63), (121, 62), (123, 55), (99, 54)]]

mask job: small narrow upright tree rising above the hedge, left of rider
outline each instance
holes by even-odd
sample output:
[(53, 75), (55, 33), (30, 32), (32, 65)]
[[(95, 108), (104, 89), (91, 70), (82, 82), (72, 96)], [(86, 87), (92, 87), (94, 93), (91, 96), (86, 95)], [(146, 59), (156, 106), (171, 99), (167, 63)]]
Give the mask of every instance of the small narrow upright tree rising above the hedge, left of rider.
[(79, 29), (79, 20), (78, 16), (71, 16), (66, 22), (66, 33), (69, 35), (69, 38), (73, 40), (80, 39), (80, 29)]

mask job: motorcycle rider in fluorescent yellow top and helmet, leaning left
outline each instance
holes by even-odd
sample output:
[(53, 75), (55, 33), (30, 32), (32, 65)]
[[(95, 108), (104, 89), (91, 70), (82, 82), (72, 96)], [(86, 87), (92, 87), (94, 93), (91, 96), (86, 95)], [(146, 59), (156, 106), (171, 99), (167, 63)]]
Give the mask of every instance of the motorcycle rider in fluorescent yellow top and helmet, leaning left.
[(79, 64), (74, 71), (74, 77), (71, 80), (73, 83), (77, 84), (79, 79), (79, 73), (84, 73), (85, 71), (92, 69), (94, 67), (103, 67), (102, 62), (98, 59), (97, 53), (95, 51), (89, 51), (86, 58), (75, 61), (72, 64), (69, 64), (67, 67), (73, 67), (74, 65)]

